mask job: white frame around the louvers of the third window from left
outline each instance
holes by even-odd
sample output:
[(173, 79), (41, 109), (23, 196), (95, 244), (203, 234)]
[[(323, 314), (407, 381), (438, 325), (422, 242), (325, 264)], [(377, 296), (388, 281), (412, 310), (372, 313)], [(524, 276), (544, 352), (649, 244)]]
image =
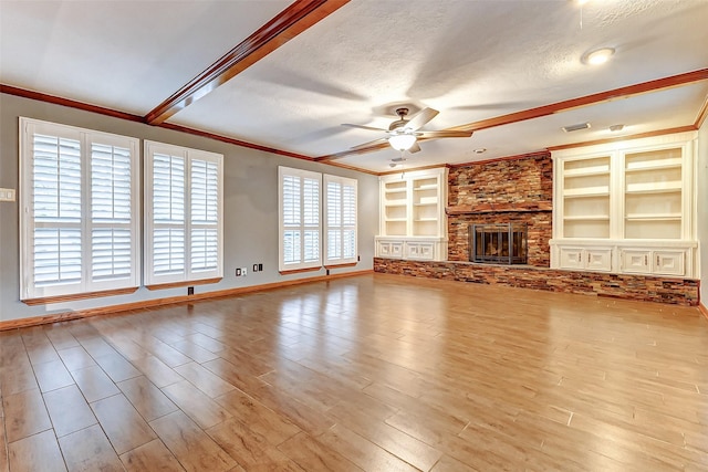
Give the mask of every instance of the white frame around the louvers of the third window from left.
[[(299, 223), (285, 225), (283, 214), (283, 197), (284, 197), (284, 182), (285, 178), (295, 178), (300, 181), (300, 204), (299, 204)], [(303, 181), (316, 180), (317, 188), (317, 217), (316, 224), (310, 222), (305, 223), (305, 202)], [(294, 262), (285, 261), (285, 231), (294, 230), (300, 231), (300, 254), (299, 259)], [(305, 252), (305, 232), (317, 232), (317, 258), (312, 260), (304, 260)], [(317, 269), (322, 266), (322, 174), (313, 172), (310, 170), (293, 169), (290, 167), (278, 167), (278, 269), (280, 272), (298, 271), (308, 269)]]

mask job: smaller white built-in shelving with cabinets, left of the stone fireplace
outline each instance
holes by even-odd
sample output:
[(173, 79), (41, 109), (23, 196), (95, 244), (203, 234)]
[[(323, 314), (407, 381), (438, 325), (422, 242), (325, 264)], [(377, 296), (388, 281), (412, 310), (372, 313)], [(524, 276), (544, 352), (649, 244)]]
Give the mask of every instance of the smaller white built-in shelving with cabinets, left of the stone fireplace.
[(376, 256), (447, 259), (447, 168), (379, 177)]

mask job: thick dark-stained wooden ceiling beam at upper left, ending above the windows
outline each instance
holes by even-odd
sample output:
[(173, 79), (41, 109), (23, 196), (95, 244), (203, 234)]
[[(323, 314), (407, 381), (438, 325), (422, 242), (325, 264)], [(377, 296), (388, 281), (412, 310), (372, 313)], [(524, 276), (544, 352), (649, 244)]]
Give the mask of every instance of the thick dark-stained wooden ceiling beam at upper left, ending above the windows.
[(145, 122), (150, 125), (164, 123), (348, 2), (350, 0), (295, 0), (145, 115)]

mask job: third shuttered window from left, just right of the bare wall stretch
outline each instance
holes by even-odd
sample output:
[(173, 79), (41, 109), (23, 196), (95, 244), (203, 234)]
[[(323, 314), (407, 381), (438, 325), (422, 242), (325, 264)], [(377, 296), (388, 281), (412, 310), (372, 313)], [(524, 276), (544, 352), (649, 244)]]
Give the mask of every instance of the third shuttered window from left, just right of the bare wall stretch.
[(322, 266), (320, 252), (320, 183), (322, 175), (278, 168), (280, 185), (281, 271)]

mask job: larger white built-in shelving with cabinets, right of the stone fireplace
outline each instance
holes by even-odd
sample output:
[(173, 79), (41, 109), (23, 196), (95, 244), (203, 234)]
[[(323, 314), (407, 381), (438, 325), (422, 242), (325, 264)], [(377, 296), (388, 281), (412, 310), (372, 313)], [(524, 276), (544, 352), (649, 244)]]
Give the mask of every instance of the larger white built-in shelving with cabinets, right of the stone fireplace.
[(554, 151), (551, 266), (697, 277), (695, 138)]

